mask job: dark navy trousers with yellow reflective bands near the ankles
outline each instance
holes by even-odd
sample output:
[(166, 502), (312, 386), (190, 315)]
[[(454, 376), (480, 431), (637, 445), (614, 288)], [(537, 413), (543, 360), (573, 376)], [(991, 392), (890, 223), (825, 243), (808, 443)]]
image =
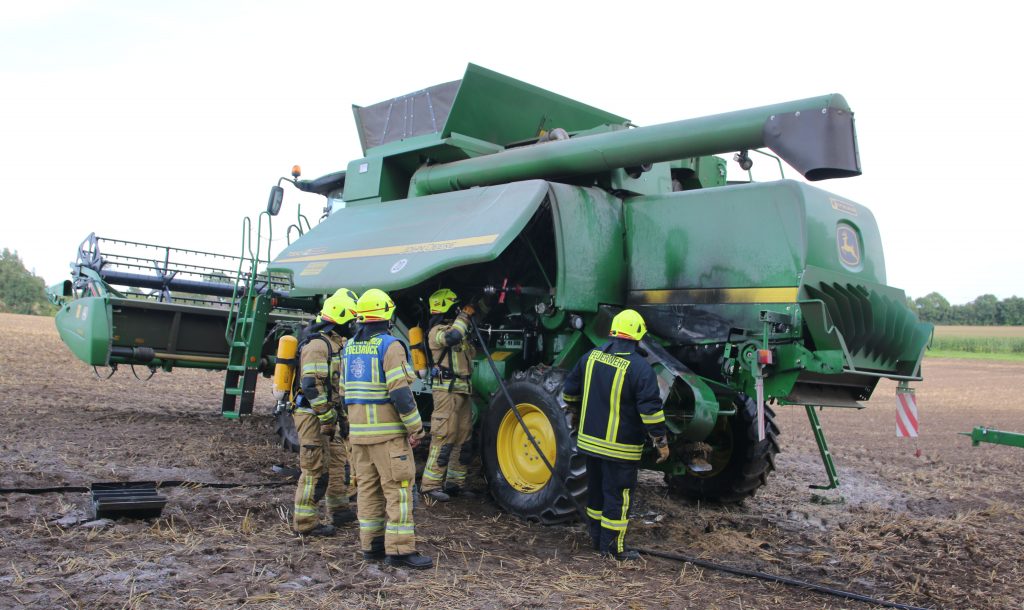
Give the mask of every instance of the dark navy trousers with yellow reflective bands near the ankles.
[(601, 553), (625, 550), (630, 502), (639, 472), (636, 463), (587, 455), (587, 516), (590, 536)]

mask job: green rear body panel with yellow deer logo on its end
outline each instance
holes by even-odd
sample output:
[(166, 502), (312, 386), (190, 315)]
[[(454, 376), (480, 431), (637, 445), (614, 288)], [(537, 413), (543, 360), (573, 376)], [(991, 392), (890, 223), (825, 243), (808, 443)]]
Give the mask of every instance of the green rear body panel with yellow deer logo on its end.
[[(885, 284), (870, 212), (802, 182), (636, 198), (626, 217), (631, 291), (797, 287), (809, 265)], [(857, 265), (840, 259), (839, 227), (858, 239)]]

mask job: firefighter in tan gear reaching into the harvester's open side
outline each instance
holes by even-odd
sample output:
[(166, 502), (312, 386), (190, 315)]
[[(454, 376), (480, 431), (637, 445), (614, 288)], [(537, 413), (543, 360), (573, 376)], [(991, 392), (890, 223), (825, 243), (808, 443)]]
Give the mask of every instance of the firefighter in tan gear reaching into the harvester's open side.
[[(466, 470), (473, 456), (473, 346), (469, 343), (472, 306), (460, 311), (459, 297), (449, 289), (430, 295), (427, 344), (433, 356), (434, 411), (430, 418), (430, 453), (423, 469), (420, 491), (439, 502), (451, 495), (471, 496)], [(458, 315), (456, 315), (458, 313)]]

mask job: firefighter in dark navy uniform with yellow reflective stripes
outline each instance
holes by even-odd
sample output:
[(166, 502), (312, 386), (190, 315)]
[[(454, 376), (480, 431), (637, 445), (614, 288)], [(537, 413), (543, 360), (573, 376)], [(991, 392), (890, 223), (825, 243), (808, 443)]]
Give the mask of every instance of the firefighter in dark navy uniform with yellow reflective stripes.
[(640, 558), (624, 541), (644, 437), (653, 441), (658, 464), (669, 459), (657, 379), (637, 353), (646, 332), (639, 313), (623, 310), (611, 320), (611, 341), (584, 355), (562, 387), (562, 398), (580, 413), (577, 446), (587, 455), (594, 550), (620, 561)]

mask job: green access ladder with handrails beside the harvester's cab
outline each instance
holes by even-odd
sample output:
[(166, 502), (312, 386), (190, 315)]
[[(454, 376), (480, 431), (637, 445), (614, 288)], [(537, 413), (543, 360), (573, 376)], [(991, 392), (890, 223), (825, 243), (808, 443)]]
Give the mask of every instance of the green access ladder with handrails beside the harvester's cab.
[[(261, 246), (264, 216), (267, 218), (265, 260), (262, 257)], [(263, 335), (266, 331), (272, 298), (270, 294), (260, 294), (256, 290), (257, 281), (260, 278), (260, 264), (270, 262), (270, 248), (273, 241), (270, 216), (266, 212), (259, 216), (256, 225), (255, 250), (253, 249), (252, 229), (252, 220), (249, 217), (243, 219), (242, 255), (239, 257), (239, 269), (234, 278), (231, 304), (228, 308), (227, 325), (224, 328), (228, 356), (220, 412), (225, 418), (232, 419), (252, 412), (256, 377), (259, 374), (262, 356)], [(244, 271), (247, 264), (249, 269)], [(266, 281), (268, 286), (272, 286), (269, 273), (266, 273)], [(236, 408), (236, 402), (238, 402), (238, 408)]]

